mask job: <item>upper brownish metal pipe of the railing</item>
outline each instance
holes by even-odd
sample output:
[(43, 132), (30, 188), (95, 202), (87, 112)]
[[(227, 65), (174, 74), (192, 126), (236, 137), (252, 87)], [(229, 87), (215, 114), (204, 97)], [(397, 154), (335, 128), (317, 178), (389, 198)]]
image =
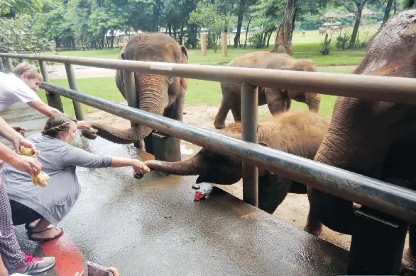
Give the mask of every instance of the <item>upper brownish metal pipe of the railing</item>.
[(412, 78), (139, 62), (85, 57), (56, 57), (38, 54), (0, 53), (0, 57), (21, 57), (48, 62), (63, 62), (108, 69), (140, 71), (146, 74), (180, 76), (207, 81), (247, 83), (260, 87), (278, 87), (334, 96), (361, 98), (364, 100), (416, 105), (416, 79)]

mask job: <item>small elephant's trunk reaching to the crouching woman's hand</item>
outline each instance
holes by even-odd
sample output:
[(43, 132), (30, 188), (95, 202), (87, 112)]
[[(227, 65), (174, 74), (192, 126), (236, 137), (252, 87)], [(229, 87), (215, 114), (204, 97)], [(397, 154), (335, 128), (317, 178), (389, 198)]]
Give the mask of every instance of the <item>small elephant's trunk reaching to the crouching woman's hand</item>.
[(152, 171), (160, 171), (175, 176), (198, 176), (204, 171), (204, 161), (199, 153), (185, 161), (165, 162), (150, 160), (145, 163)]

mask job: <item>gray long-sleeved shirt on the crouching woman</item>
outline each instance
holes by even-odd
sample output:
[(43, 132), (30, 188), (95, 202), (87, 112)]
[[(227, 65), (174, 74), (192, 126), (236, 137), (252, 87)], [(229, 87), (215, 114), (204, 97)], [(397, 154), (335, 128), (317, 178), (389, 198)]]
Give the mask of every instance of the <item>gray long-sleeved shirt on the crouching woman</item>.
[(80, 196), (77, 166), (106, 168), (111, 156), (91, 154), (49, 135), (33, 134), (27, 138), (40, 151), (38, 161), (50, 180), (45, 188), (34, 185), (31, 176), (8, 163), (1, 170), (4, 189), (11, 200), (38, 212), (52, 224), (58, 224)]

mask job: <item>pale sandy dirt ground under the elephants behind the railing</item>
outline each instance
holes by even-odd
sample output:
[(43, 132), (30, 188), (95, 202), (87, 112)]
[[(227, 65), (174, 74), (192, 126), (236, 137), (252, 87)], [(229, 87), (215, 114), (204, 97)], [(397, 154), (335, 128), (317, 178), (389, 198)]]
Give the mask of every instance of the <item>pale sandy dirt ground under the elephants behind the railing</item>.
[[(126, 103), (123, 103), (126, 104)], [(267, 108), (267, 106), (262, 106), (259, 108), (262, 110), (263, 108)], [(217, 131), (213, 125), (214, 116), (217, 114), (217, 107), (213, 106), (187, 106), (184, 110), (185, 115), (183, 115), (183, 120), (185, 123), (190, 125), (195, 125), (197, 127), (202, 127), (208, 130)], [(86, 120), (94, 121), (94, 122), (102, 122), (102, 123), (110, 123), (111, 125), (117, 125), (121, 128), (128, 128), (130, 127), (130, 122), (128, 120), (124, 120), (120, 117), (116, 117), (109, 113), (105, 113), (101, 110), (94, 110), (93, 113), (89, 113), (86, 116)], [(226, 124), (229, 122), (233, 122), (233, 117), (231, 112), (227, 117)], [(195, 146), (189, 144), (187, 142), (182, 142), (182, 155), (183, 159), (189, 158), (190, 156), (194, 155), (199, 151), (199, 146)], [(239, 197), (242, 199), (243, 195), (243, 186), (242, 182), (236, 183), (234, 185), (217, 185), (219, 188), (226, 190), (227, 192), (231, 193), (232, 195)], [(285, 222), (288, 222), (294, 226), (297, 226), (300, 229), (306, 224), (307, 221), (307, 212), (309, 211), (309, 202), (307, 200), (307, 195), (295, 195), (289, 194), (288, 197), (283, 201), (283, 203), (278, 207), (278, 209), (273, 214), (275, 217), (282, 219)], [(351, 236), (336, 233), (330, 229), (324, 228), (322, 231), (322, 236), (326, 241), (336, 244), (341, 248), (345, 248), (349, 250), (349, 246), (351, 243)]]

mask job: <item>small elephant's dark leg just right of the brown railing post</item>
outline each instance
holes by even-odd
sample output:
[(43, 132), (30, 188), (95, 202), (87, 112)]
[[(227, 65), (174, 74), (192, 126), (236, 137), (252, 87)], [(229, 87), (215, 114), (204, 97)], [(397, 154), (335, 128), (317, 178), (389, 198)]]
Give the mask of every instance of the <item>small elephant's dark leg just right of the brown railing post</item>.
[(292, 181), (275, 174), (258, 178), (258, 208), (273, 214), (280, 203), (285, 200)]

